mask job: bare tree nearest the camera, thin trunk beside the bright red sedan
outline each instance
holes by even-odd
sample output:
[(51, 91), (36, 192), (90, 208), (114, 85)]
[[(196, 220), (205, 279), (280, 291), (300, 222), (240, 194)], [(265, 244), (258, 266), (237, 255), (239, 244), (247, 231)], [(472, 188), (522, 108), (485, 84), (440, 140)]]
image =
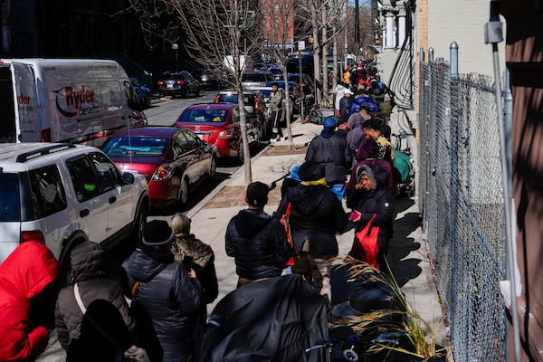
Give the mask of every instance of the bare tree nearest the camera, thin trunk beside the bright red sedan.
[[(224, 67), (232, 72), (233, 89), (238, 93), (242, 129), (245, 184), (252, 182), (251, 155), (247, 138), (247, 112), (243, 102), (242, 77), (251, 55), (260, 50), (258, 2), (249, 0), (164, 0), (175, 10), (180, 24), (186, 24), (181, 39), (187, 52), (208, 67)], [(228, 57), (228, 58), (227, 58)]]

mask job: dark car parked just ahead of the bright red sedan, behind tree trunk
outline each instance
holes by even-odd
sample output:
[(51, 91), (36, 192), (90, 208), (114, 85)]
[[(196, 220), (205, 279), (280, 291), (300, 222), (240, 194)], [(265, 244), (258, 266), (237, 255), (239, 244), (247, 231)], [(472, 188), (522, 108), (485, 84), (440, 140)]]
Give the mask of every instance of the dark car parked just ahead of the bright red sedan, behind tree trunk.
[[(238, 104), (237, 90), (222, 90), (214, 98), (214, 103)], [(259, 120), (262, 139), (271, 137), (271, 122), (268, 114), (268, 106), (261, 99), (261, 94), (253, 90), (243, 90), (243, 105), (250, 117)]]

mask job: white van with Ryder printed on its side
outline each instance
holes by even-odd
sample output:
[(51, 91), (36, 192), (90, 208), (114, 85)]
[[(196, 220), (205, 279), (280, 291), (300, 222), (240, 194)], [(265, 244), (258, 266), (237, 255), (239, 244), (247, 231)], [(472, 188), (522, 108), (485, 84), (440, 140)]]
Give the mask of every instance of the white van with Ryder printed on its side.
[(99, 146), (115, 130), (147, 125), (119, 63), (0, 59), (0, 142)]

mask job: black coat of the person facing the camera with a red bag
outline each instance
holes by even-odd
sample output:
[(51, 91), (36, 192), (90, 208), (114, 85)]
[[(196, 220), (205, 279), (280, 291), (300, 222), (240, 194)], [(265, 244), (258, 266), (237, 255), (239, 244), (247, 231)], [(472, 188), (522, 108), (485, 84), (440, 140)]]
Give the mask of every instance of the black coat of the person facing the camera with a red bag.
[(376, 180), (376, 189), (369, 191), (353, 190), (352, 194), (348, 196), (348, 205), (352, 205), (352, 208), (361, 214), (360, 221), (355, 225), (355, 231), (362, 230), (372, 216), (376, 214), (372, 225), (379, 226), (377, 236), (379, 252), (386, 254), (388, 252), (388, 239), (392, 232), (391, 227), (394, 220), (394, 195), (386, 188), (388, 172), (384, 167), (375, 164), (360, 167), (370, 168), (370, 172), (373, 173), (373, 177)]

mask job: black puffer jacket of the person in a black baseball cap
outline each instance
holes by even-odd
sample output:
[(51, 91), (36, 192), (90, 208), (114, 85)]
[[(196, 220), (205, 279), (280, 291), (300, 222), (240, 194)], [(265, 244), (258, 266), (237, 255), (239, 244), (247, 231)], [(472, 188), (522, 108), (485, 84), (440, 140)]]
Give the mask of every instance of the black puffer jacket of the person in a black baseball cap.
[(250, 280), (281, 275), (292, 255), (281, 223), (262, 210), (242, 210), (226, 227), (225, 248), (235, 271)]

